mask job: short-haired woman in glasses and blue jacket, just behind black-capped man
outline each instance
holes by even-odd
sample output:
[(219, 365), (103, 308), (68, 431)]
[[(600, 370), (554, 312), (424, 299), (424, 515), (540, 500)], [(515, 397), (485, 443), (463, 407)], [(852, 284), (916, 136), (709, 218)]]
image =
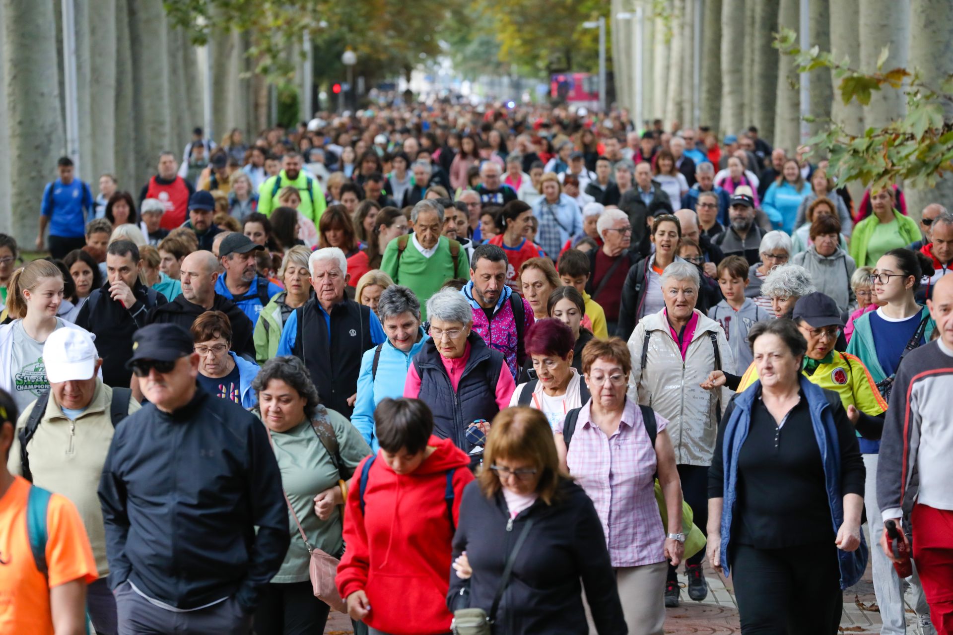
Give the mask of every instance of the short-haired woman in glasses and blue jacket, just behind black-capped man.
[(222, 311), (206, 311), (195, 319), (190, 331), (199, 358), (198, 385), (219, 399), (253, 407), (257, 399), (252, 382), (258, 365), (232, 352), (229, 316)]

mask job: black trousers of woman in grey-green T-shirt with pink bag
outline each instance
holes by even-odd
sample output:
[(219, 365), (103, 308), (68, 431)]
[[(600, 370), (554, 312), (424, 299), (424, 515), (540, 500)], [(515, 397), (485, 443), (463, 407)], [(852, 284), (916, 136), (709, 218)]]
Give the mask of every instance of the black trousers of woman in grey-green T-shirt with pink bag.
[(270, 583), (254, 611), (255, 635), (311, 635), (323, 633), (331, 606), (314, 597), (310, 580)]

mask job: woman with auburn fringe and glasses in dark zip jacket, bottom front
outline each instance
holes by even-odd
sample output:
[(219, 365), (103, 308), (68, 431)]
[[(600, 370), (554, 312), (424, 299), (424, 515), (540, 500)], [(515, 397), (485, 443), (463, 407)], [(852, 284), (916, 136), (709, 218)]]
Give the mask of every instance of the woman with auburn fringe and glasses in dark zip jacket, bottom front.
[[(460, 502), (447, 595), (451, 609), (482, 608), (493, 632), (506, 635), (647, 632), (641, 625), (626, 630), (632, 623), (619, 602), (622, 585), (617, 589), (600, 513), (560, 470), (543, 414), (528, 407), (500, 412), (487, 440), (486, 465)], [(511, 559), (512, 571), (503, 580)], [(588, 625), (583, 590), (592, 614)], [(644, 600), (637, 599), (639, 605)]]

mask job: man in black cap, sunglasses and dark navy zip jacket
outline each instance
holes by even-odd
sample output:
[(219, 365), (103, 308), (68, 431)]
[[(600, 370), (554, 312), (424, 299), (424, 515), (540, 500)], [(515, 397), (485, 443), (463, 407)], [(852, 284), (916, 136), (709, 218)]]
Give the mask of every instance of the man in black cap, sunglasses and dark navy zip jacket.
[(134, 341), (150, 403), (116, 427), (99, 484), (119, 632), (251, 633), (290, 541), (265, 427), (195, 383), (182, 327)]

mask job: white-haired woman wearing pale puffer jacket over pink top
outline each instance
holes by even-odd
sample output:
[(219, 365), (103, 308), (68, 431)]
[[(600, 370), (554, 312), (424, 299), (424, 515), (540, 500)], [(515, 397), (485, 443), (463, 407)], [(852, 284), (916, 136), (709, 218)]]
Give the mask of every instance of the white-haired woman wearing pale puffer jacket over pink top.
[[(695, 524), (706, 526), (708, 466), (715, 451), (716, 432), (727, 390), (700, 385), (714, 370), (735, 372), (735, 360), (718, 322), (695, 308), (699, 299), (699, 269), (673, 262), (661, 273), (664, 308), (646, 315), (629, 338), (632, 355), (630, 397), (651, 406), (666, 419), (675, 447), (681, 490), (695, 512)], [(708, 594), (701, 571), (703, 553), (686, 561), (688, 595)], [(676, 567), (670, 566), (665, 605), (679, 605)]]

